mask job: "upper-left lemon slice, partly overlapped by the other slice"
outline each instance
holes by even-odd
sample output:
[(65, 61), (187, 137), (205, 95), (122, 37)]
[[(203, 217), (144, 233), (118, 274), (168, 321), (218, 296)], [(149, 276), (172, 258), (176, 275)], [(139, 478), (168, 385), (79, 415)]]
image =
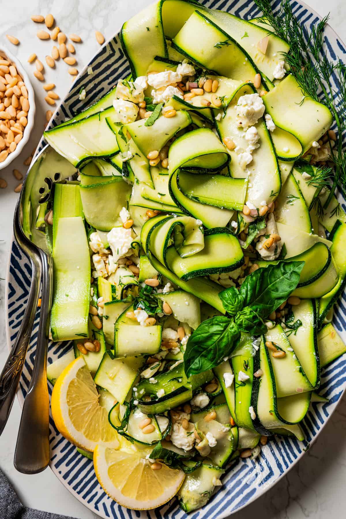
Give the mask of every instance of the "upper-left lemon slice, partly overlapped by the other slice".
[(99, 404), (99, 393), (82, 357), (64, 369), (54, 385), (51, 409), (57, 429), (77, 447), (93, 452), (98, 443), (118, 448), (118, 433)]

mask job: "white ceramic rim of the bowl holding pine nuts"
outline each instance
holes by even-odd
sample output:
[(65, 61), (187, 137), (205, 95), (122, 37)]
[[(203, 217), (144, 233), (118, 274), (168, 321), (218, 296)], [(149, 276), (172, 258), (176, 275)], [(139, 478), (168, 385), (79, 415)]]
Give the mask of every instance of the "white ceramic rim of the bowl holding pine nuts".
[(0, 162), (0, 170), (1, 170), (4, 168), (7, 168), (7, 166), (10, 165), (12, 160), (14, 158), (18, 157), (18, 155), (21, 153), (23, 147), (29, 140), (31, 130), (34, 126), (34, 117), (35, 117), (36, 107), (35, 107), (34, 89), (32, 87), (32, 84), (30, 83), (29, 76), (26, 74), (21, 62), (15, 56), (13, 56), (13, 54), (6, 47), (2, 47), (2, 46), (0, 46), (0, 59), (7, 59), (8, 61), (13, 62), (13, 65), (16, 66), (17, 71), (22, 76), (23, 81), (25, 83), (26, 90), (28, 93), (29, 104), (30, 104), (29, 112), (27, 113), (27, 125), (25, 126), (25, 129), (23, 131), (23, 138), (17, 144), (15, 151), (12, 153), (9, 153), (6, 160), (4, 160), (4, 162)]

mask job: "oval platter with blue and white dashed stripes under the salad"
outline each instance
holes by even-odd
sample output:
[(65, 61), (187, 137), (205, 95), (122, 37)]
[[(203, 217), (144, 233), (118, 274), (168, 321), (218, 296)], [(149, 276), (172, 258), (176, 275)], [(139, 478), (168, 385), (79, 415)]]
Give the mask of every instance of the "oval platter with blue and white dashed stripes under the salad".
[[(202, 3), (210, 8), (230, 11), (244, 19), (251, 19), (260, 14), (252, 0), (203, 0)], [(279, 4), (280, 0), (275, 0), (274, 7)], [(302, 24), (307, 25), (308, 30), (320, 20), (319, 16), (305, 4), (292, 1), (291, 5), (297, 18)], [(325, 36), (324, 52), (328, 59), (345, 61), (346, 47), (329, 26), (326, 27)], [(92, 66), (92, 75), (87, 73), (88, 66)], [(113, 87), (119, 78), (129, 74), (127, 59), (121, 50), (118, 35), (110, 39), (95, 54), (87, 67), (78, 76), (71, 91), (68, 92), (65, 100), (54, 114), (50, 127), (56, 126), (65, 118), (74, 116), (75, 113), (95, 102)], [(78, 99), (81, 88), (86, 90), (85, 101)], [(336, 84), (334, 88), (336, 91), (338, 90)], [(44, 145), (45, 141), (41, 141), (38, 151)], [(343, 209), (346, 210), (345, 199), (341, 193), (338, 193), (338, 198)], [(18, 248), (16, 242), (13, 241), (6, 278), (6, 327), (9, 348), (12, 346), (19, 330), (27, 302), (30, 281), (30, 262)], [(38, 319), (39, 312), (36, 313), (31, 343), (20, 381), (18, 398), (21, 405), (29, 387), (35, 358)], [(344, 341), (346, 340), (345, 321), (346, 298), (343, 294), (339, 304), (335, 305), (333, 324)], [(71, 342), (50, 343), (48, 362), (51, 363), (58, 359), (69, 349), (71, 349)], [(302, 425), (307, 443), (311, 444), (326, 425), (345, 388), (346, 354), (322, 370), (319, 392), (329, 401), (328, 403), (314, 403), (310, 407)], [(49, 385), (50, 393), (51, 389)], [(303, 456), (307, 443), (304, 444), (292, 438), (276, 438), (261, 449), (261, 454), (256, 460), (250, 461), (241, 458), (235, 460), (222, 478), (223, 487), (214, 494), (203, 509), (193, 513), (191, 519), (202, 519), (203, 517), (221, 519), (254, 501), (293, 467)], [(119, 507), (115, 501), (104, 493), (98, 480), (96, 480), (92, 461), (78, 454), (76, 448), (63, 438), (54, 426), (52, 418), (50, 418), (50, 449), (52, 471), (79, 501), (101, 517), (129, 517), (131, 519), (135, 517), (152, 517), (153, 519), (182, 519), (187, 517), (185, 512), (178, 508), (176, 499), (159, 509), (142, 513)]]

